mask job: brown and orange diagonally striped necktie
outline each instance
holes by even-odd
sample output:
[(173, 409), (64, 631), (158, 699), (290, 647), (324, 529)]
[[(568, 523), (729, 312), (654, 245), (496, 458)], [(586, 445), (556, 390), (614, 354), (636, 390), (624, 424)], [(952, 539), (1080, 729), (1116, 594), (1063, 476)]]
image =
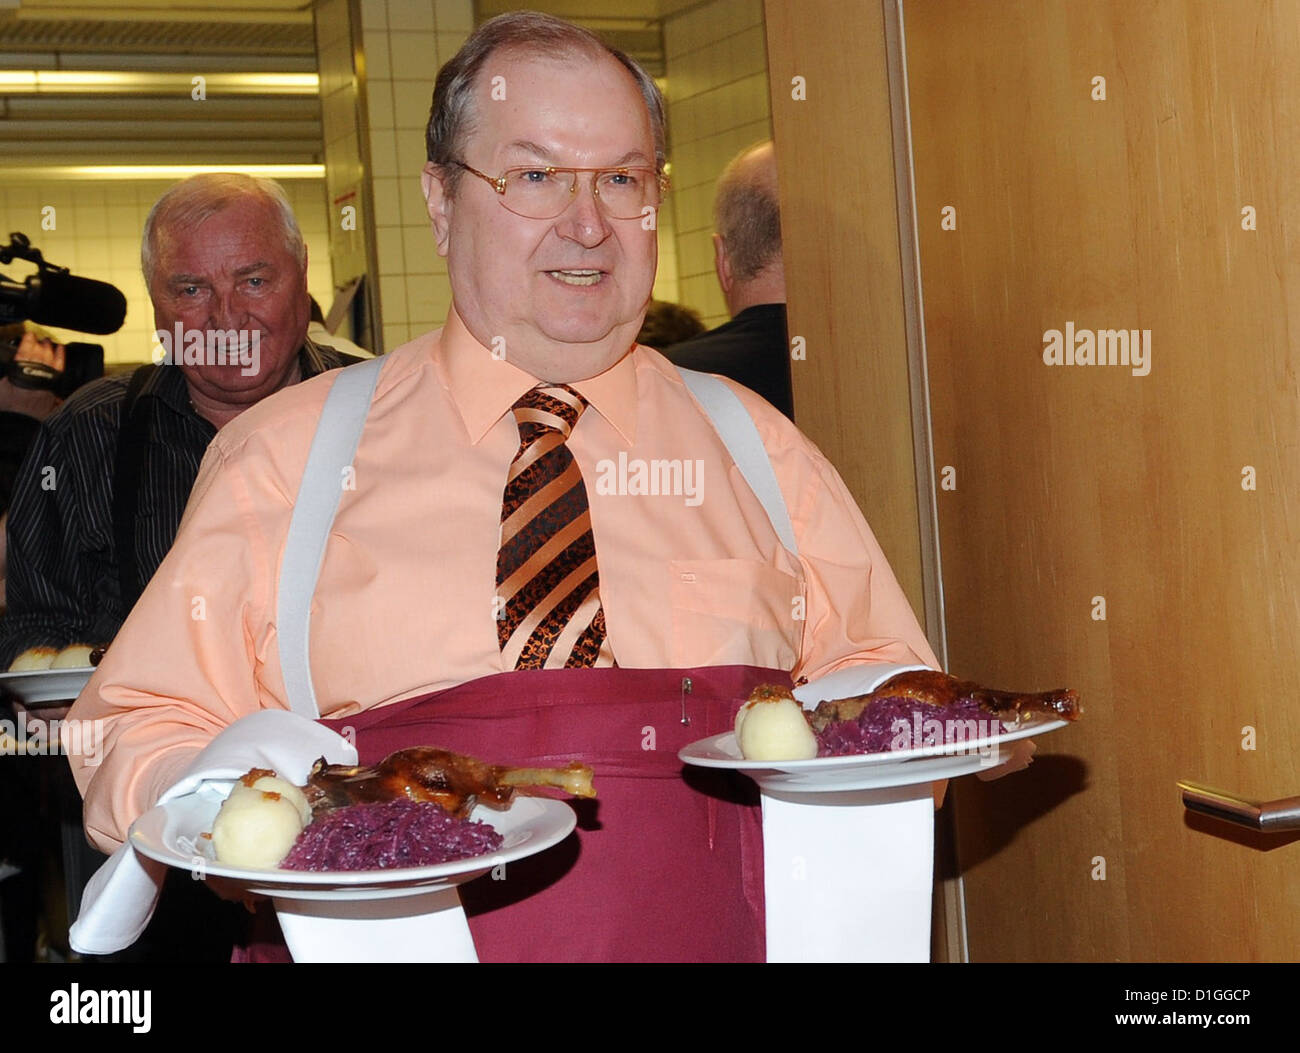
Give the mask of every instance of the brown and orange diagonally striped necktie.
[(515, 403), (519, 452), (500, 510), (497, 636), (506, 668), (612, 666), (582, 472), (566, 439), (586, 408), (568, 385)]

